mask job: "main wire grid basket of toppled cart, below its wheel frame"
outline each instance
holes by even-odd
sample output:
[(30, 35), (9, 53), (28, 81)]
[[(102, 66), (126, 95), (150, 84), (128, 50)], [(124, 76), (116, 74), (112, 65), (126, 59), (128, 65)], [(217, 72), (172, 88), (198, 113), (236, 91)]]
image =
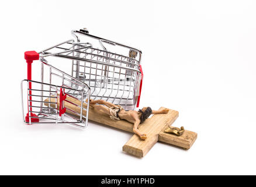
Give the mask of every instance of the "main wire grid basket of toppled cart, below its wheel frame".
[[(95, 51), (95, 49), (87, 48), (84, 51)], [(84, 51), (74, 51), (73, 53), (87, 53)], [(108, 54), (108, 52), (103, 53)], [(79, 73), (79, 81), (87, 84), (92, 89), (92, 99), (104, 99), (116, 105), (122, 105), (124, 109), (135, 108), (141, 79), (139, 65), (130, 61), (123, 62), (123, 57), (120, 57), (120, 60), (103, 56), (98, 56), (95, 60), (88, 59), (88, 57), (92, 58), (94, 56), (92, 53), (87, 53), (87, 56), (85, 56), (87, 58), (76, 57), (77, 54), (72, 56), (71, 53), (55, 56), (72, 61), (72, 72), (75, 72), (72, 75)], [(42, 59), (45, 60), (45, 58)], [(79, 61), (79, 71), (75, 69), (77, 61)], [(105, 72), (107, 73), (105, 74)], [(75, 88), (74, 85), (71, 85), (71, 88)]]

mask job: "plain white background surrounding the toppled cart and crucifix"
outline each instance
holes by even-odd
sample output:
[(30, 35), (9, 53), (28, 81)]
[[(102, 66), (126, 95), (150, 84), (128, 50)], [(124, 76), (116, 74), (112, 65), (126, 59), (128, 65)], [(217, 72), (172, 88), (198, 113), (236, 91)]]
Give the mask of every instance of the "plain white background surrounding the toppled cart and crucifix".
[[(255, 1), (5, 1), (0, 174), (256, 174), (255, 10)], [(140, 106), (178, 110), (173, 126), (198, 133), (190, 150), (157, 143), (139, 159), (122, 153), (124, 131), (23, 124), (23, 53), (82, 27), (143, 51)]]

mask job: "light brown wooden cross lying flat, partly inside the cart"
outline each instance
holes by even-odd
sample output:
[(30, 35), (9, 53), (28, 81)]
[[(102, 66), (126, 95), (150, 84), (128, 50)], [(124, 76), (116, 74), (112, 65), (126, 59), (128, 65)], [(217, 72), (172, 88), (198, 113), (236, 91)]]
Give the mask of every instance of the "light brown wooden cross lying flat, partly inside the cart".
[[(77, 103), (79, 101), (76, 99), (67, 97), (66, 101), (71, 101)], [(54, 101), (53, 101), (54, 102)], [(59, 101), (58, 101), (59, 104)], [(65, 108), (70, 108), (75, 112), (80, 112), (80, 108), (74, 107), (68, 102), (65, 102)], [(87, 108), (87, 105), (84, 103), (84, 108)], [(67, 110), (68, 112), (68, 110)], [(86, 116), (86, 111), (83, 111)], [(167, 144), (174, 146), (182, 147), (186, 150), (191, 148), (192, 144), (195, 142), (198, 134), (192, 131), (185, 130), (184, 134), (181, 136), (176, 136), (175, 134), (165, 133), (164, 130), (168, 126), (171, 126), (172, 123), (177, 119), (179, 113), (175, 110), (169, 110), (168, 113), (153, 115), (152, 117), (146, 119), (143, 123), (139, 125), (139, 130), (144, 134), (147, 134), (146, 140), (141, 140), (139, 136), (134, 134), (132, 138), (123, 146), (123, 151), (136, 157), (144, 157), (148, 151), (154, 146), (157, 141), (161, 141)], [(133, 124), (127, 122), (126, 120), (114, 121), (110, 119), (108, 115), (101, 112), (101, 110), (95, 110), (92, 107), (89, 107), (88, 119), (94, 122), (105, 124), (107, 126), (115, 127), (124, 131), (133, 133)]]

